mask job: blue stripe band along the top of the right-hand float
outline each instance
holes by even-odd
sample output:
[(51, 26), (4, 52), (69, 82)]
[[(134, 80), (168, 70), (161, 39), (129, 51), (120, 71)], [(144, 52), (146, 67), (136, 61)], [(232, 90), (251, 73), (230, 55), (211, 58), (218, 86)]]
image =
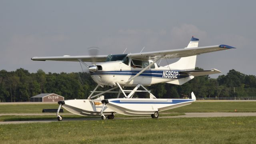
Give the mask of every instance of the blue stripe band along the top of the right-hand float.
[(117, 104), (179, 104), (182, 102), (191, 102), (194, 100), (172, 100), (172, 102), (120, 102), (120, 100), (113, 100), (109, 102), (114, 102)]

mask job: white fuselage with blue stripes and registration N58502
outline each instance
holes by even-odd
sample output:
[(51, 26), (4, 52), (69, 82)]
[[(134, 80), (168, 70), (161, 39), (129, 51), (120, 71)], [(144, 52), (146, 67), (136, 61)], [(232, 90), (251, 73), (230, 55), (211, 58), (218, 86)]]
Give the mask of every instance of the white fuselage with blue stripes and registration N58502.
[(116, 86), (116, 82), (122, 86), (136, 86), (137, 84), (147, 86), (188, 77), (188, 75), (180, 75), (179, 70), (170, 70), (168, 67), (158, 67), (157, 64), (154, 64), (154, 68), (148, 68), (134, 80), (128, 82), (129, 78), (138, 74), (143, 68), (134, 68), (120, 61), (102, 62), (96, 65), (101, 66), (102, 70), (90, 72), (90, 74), (100, 86), (113, 87)]

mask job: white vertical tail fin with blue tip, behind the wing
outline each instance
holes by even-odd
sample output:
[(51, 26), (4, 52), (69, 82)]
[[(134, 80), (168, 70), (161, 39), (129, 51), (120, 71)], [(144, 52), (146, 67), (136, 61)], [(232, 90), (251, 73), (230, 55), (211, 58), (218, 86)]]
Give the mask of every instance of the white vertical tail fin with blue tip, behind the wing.
[[(186, 48), (196, 48), (198, 47), (198, 38), (192, 36), (188, 46)], [(171, 70), (194, 70), (196, 67), (196, 56), (188, 56), (180, 58), (177, 62), (169, 64), (165, 67), (170, 67)]]

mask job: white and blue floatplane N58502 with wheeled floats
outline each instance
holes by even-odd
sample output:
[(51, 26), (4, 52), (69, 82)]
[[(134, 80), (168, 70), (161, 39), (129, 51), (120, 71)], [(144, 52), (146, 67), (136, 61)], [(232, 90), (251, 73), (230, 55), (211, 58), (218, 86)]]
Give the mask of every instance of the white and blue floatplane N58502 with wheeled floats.
[[(221, 73), (219, 70), (195, 70), (196, 56), (208, 52), (230, 50), (228, 45), (198, 47), (198, 38), (192, 37), (188, 46), (183, 49), (140, 52), (131, 54), (89, 55), (89, 56), (48, 56), (33, 57), (32, 60), (74, 61), (88, 67), (92, 79), (98, 84), (87, 99), (59, 101), (56, 113), (59, 121), (61, 107), (69, 112), (82, 116), (101, 116), (113, 119), (115, 112), (125, 115), (158, 118), (158, 112), (191, 104), (196, 100), (194, 93), (191, 99), (157, 99), (145, 86), (158, 83), (182, 85), (195, 76)], [(167, 66), (159, 66), (161, 59), (180, 58)], [(94, 62), (88, 65), (85, 62)], [(97, 91), (99, 87), (108, 87), (106, 91)], [(126, 87), (134, 87), (126, 90)], [(138, 88), (144, 90), (138, 90)], [(119, 89), (116, 91), (115, 89)], [(112, 92), (117, 97), (104, 99), (104, 94)], [(133, 98), (136, 92), (148, 92), (149, 98)], [(122, 95), (122, 96), (121, 96)]]

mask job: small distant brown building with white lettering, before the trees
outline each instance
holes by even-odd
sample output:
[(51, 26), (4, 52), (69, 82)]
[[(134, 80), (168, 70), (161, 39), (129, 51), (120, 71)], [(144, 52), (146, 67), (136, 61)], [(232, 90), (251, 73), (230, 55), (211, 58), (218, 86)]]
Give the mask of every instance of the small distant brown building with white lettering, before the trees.
[(30, 98), (30, 102), (58, 102), (64, 100), (63, 96), (58, 94), (38, 94)]

